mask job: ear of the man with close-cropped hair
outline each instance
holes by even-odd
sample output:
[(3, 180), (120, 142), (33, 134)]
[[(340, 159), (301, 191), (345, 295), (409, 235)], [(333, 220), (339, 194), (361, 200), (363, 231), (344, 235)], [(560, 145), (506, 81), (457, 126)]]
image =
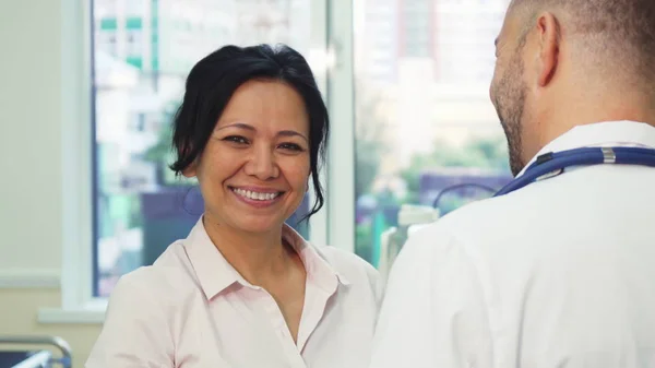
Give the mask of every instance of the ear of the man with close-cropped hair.
[(557, 71), (560, 57), (560, 26), (552, 13), (539, 14), (536, 22), (538, 60), (537, 83), (544, 87), (550, 83)]

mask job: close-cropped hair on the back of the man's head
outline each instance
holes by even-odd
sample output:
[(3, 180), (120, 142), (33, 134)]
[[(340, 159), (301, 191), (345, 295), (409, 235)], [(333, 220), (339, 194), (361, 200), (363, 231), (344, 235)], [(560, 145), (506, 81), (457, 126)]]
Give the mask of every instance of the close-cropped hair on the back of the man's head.
[(655, 94), (655, 0), (513, 0), (510, 11), (525, 34), (539, 12), (556, 14), (581, 68)]

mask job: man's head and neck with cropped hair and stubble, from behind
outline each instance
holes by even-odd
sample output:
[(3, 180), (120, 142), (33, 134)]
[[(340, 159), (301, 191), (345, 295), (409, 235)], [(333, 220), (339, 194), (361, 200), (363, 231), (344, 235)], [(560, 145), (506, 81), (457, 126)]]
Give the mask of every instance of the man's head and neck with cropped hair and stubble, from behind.
[(517, 174), (571, 128), (655, 126), (655, 0), (512, 0), (490, 97)]

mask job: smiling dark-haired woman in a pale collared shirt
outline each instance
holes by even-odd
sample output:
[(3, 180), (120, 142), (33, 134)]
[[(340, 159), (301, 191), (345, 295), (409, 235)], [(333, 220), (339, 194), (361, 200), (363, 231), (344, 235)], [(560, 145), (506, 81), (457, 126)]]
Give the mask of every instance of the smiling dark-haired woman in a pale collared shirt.
[(309, 216), (323, 205), (327, 132), (294, 49), (227, 46), (199, 61), (170, 168), (198, 179), (204, 214), (153, 266), (120, 280), (87, 367), (366, 367), (377, 271), (285, 224), (310, 185)]

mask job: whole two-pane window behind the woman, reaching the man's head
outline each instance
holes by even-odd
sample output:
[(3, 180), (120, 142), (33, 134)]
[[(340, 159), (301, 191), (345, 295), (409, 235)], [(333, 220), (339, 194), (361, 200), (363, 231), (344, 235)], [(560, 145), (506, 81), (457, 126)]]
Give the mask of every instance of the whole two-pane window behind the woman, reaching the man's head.
[[(403, 205), (436, 205), (444, 215), (511, 179), (488, 100), (493, 38), (509, 0), (355, 0), (352, 9), (338, 0), (91, 1), (98, 10), (96, 297), (184, 237), (200, 215), (194, 183), (166, 169), (169, 123), (190, 68), (225, 44), (289, 44), (308, 57), (322, 87), (321, 68), (338, 66), (325, 94), (332, 142), (348, 142), (354, 132), (355, 146), (332, 150), (326, 173), (350, 167), (354, 149), (355, 176), (352, 185), (345, 171), (326, 178), (330, 214), (324, 210), (311, 226), (298, 226), (310, 239), (346, 249), (354, 240), (355, 251), (385, 273), (397, 249), (384, 239), (398, 227)], [(324, 58), (332, 56), (325, 55), (327, 29), (335, 60)]]

